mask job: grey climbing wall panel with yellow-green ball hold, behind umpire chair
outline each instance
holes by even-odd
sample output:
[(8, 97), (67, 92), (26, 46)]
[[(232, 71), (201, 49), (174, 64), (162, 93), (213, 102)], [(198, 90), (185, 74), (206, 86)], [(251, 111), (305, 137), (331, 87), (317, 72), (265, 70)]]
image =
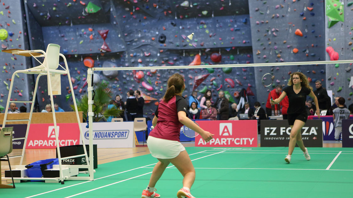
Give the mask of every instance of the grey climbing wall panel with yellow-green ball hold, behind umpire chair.
[[(2, 0), (0, 2), (0, 39), (1, 48), (28, 49), (28, 37), (26, 33), (26, 20), (24, 7), (21, 0)], [(16, 70), (26, 68), (30, 60), (23, 56), (12, 55), (0, 52), (0, 112), (5, 112), (7, 96), (10, 88), (12, 74)], [(32, 80), (29, 76), (19, 74), (14, 77), (14, 89), (11, 100), (26, 101), (32, 99)], [(25, 106), (29, 109), (28, 103), (17, 103), (17, 108)]]

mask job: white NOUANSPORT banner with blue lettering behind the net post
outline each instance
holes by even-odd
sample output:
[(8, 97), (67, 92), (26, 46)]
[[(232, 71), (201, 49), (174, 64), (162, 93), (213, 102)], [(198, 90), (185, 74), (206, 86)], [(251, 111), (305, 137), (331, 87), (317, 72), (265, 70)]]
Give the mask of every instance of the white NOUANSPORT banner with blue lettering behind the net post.
[[(87, 123), (81, 123), (85, 144), (89, 143)], [(97, 148), (132, 148), (135, 141), (133, 122), (94, 122), (93, 144)]]

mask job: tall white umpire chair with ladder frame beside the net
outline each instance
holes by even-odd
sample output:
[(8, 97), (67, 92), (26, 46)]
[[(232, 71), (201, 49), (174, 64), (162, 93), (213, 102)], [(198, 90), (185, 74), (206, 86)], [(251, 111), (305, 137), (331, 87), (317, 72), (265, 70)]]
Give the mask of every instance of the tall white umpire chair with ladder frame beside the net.
[[(77, 111), (76, 99), (75, 99), (75, 94), (73, 93), (73, 87), (72, 87), (70, 72), (69, 72), (69, 69), (68, 69), (68, 66), (67, 66), (67, 62), (66, 62), (65, 56), (60, 53), (60, 46), (56, 45), (56, 44), (49, 44), (48, 47), (47, 47), (47, 51), (46, 52), (44, 52), (43, 50), (20, 50), (20, 49), (3, 50), (2, 52), (18, 54), (18, 55), (26, 56), (26, 57), (33, 57), (34, 59), (36, 59), (40, 63), (39, 66), (36, 66), (34, 68), (29, 68), (29, 69), (25, 69), (25, 70), (17, 70), (15, 72), (13, 72), (13, 74), (12, 74), (11, 84), (10, 84), (10, 88), (9, 88), (7, 104), (6, 104), (6, 109), (5, 109), (4, 121), (2, 123), (2, 126), (5, 127), (6, 122), (18, 122), (18, 121), (27, 121), (28, 122), (25, 137), (24, 138), (13, 139), (13, 140), (24, 139), (22, 155), (13, 156), (13, 157), (21, 157), (20, 165), (22, 165), (23, 157), (24, 157), (24, 153), (25, 153), (26, 142), (27, 142), (27, 137), (28, 137), (28, 131), (29, 131), (31, 118), (32, 118), (32, 113), (33, 113), (34, 101), (35, 101), (35, 98), (36, 98), (36, 93), (37, 93), (37, 88), (38, 88), (38, 82), (39, 82), (39, 78), (41, 76), (44, 76), (44, 75), (47, 76), (48, 94), (50, 95), (50, 100), (51, 100), (52, 107), (54, 107), (53, 89), (52, 89), (52, 87), (53, 87), (52, 82), (53, 81), (52, 80), (56, 79), (55, 82), (56, 83), (60, 83), (60, 75), (67, 75), (68, 82), (70, 83), (70, 89), (71, 89), (71, 93), (72, 93), (73, 104), (74, 104), (75, 111), (76, 111), (77, 123), (78, 123), (78, 126), (79, 126), (80, 137), (82, 139), (82, 145), (83, 145), (83, 150), (84, 150), (84, 154), (82, 154), (82, 155), (75, 155), (75, 156), (70, 156), (70, 157), (61, 157), (60, 148), (59, 148), (58, 131), (57, 131), (57, 127), (56, 127), (55, 112), (52, 111), (53, 124), (54, 124), (54, 130), (55, 130), (56, 149), (57, 149), (58, 161), (59, 161), (59, 173), (60, 173), (59, 177), (55, 177), (55, 178), (17, 177), (15, 179), (16, 180), (46, 180), (46, 181), (47, 180), (54, 180), (54, 182), (55, 181), (56, 182), (61, 181), (61, 184), (64, 184), (64, 180), (93, 180), (94, 179), (94, 177), (93, 177), (93, 173), (94, 173), (94, 170), (93, 170), (93, 152), (91, 152), (91, 155), (88, 158), (87, 151), (86, 151), (86, 146), (85, 146), (85, 143), (83, 141), (84, 140), (84, 135), (82, 133), (82, 128), (81, 128), (81, 124), (80, 124), (79, 114), (78, 114), (78, 111)], [(44, 57), (43, 62), (41, 62), (40, 60), (37, 59), (37, 58), (42, 58), (42, 57)], [(65, 68), (59, 64), (59, 58), (60, 57), (62, 59), (64, 59)], [(61, 68), (59, 68), (59, 66)], [(18, 73), (36, 74), (36, 75), (38, 75), (37, 78), (36, 78), (36, 84), (35, 84), (35, 88), (34, 88), (33, 99), (31, 101), (10, 101), (11, 93), (12, 93), (12, 87), (13, 87), (13, 84), (14, 84), (14, 81), (15, 81), (15, 76)], [(54, 93), (54, 95), (58, 95), (58, 93), (57, 93), (58, 91), (55, 91), (55, 92), (56, 93)], [(28, 119), (21, 119), (21, 120), (7, 120), (7, 109), (9, 107), (10, 102), (11, 103), (29, 103), (29, 104), (31, 104), (31, 110), (30, 110), (29, 118)], [(90, 144), (89, 149), (90, 149), (90, 151), (93, 151), (93, 144)], [(82, 177), (82, 176), (76, 177), (74, 175), (67, 175), (67, 174), (63, 175), (63, 171), (62, 171), (63, 170), (63, 165), (61, 164), (61, 160), (70, 159), (70, 158), (76, 158), (76, 157), (83, 157), (83, 156), (85, 156), (85, 158), (86, 158), (87, 165), (64, 165), (64, 166), (65, 167), (68, 166), (69, 169), (70, 169), (71, 166), (74, 166), (74, 168), (72, 167), (73, 169), (76, 169), (76, 168), (77, 169), (78, 168), (88, 168), (88, 173), (89, 173), (88, 177)], [(5, 178), (5, 179), (7, 179), (7, 178)]]

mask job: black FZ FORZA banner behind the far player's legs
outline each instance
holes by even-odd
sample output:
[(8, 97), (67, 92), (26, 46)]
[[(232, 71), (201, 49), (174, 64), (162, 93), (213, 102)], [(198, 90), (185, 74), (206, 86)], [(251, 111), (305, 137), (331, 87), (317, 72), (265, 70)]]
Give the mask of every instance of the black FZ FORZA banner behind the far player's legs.
[[(288, 146), (291, 127), (287, 120), (261, 121), (261, 147)], [(322, 121), (307, 120), (301, 129), (306, 147), (322, 147)]]

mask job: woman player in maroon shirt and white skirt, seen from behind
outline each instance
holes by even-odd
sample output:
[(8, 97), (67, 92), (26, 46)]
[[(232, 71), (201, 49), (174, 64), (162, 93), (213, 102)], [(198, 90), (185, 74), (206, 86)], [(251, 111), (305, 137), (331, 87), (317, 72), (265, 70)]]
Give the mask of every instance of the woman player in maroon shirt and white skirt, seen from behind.
[(149, 184), (142, 192), (142, 198), (160, 197), (155, 185), (169, 163), (172, 163), (184, 176), (183, 188), (177, 192), (178, 198), (194, 198), (190, 188), (195, 181), (195, 169), (184, 146), (180, 143), (180, 127), (187, 126), (199, 133), (206, 142), (214, 134), (203, 130), (187, 118), (187, 101), (181, 96), (185, 89), (184, 77), (173, 74), (167, 82), (167, 91), (159, 103), (152, 120), (154, 129), (150, 132), (147, 146), (151, 155), (158, 159), (153, 168)]

